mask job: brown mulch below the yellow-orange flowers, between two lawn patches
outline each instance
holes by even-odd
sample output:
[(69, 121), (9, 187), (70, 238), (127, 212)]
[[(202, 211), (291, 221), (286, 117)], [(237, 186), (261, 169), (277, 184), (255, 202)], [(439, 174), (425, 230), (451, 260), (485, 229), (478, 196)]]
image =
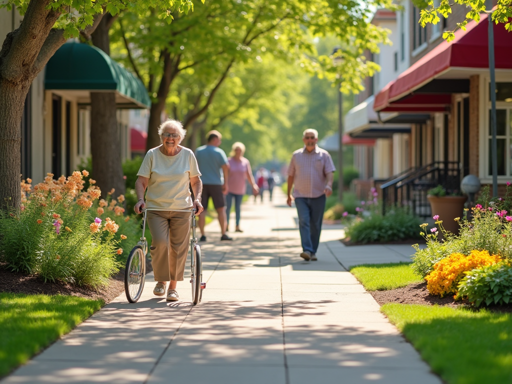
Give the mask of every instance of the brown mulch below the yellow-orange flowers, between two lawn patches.
[[(409, 284), (407, 287), (391, 289), (389, 291), (373, 291), (370, 294), (380, 306), (387, 303), (440, 305), (453, 308), (468, 306), (467, 300), (455, 301), (453, 295), (446, 295), (444, 297), (431, 295), (426, 289), (426, 283)], [(512, 312), (512, 304), (489, 306), (487, 309), (493, 312)]]

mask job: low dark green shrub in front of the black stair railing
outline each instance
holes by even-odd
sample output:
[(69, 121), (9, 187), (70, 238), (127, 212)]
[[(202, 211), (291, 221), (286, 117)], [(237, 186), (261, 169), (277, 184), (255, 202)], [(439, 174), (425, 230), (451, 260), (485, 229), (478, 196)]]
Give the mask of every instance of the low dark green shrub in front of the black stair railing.
[(368, 218), (355, 220), (347, 228), (347, 236), (357, 243), (380, 242), (418, 239), (416, 229), (420, 221), (416, 216), (402, 210), (389, 212), (386, 216), (372, 215)]

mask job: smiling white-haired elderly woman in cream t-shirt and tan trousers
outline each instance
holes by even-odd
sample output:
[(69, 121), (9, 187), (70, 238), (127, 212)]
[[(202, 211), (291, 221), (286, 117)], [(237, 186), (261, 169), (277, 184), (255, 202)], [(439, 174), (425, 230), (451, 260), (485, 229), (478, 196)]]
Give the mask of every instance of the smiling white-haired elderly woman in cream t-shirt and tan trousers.
[[(186, 131), (178, 120), (164, 121), (158, 134), (161, 145), (147, 152), (135, 182), (137, 214), (147, 210), (152, 242), (151, 264), (157, 282), (153, 293), (178, 301), (176, 284), (183, 280), (190, 240), (190, 210), (199, 215), (202, 183), (194, 152), (180, 145)], [(189, 185), (195, 200), (192, 200)], [(144, 191), (147, 189), (144, 200)], [(169, 282), (168, 287), (166, 287)]]

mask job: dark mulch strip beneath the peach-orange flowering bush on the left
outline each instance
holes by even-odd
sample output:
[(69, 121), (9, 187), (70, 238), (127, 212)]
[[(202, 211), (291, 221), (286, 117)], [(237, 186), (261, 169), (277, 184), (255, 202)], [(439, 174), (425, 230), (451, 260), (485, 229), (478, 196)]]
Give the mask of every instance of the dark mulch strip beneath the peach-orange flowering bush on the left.
[[(146, 272), (152, 271), (151, 262), (146, 260)], [(112, 276), (106, 287), (78, 287), (66, 283), (44, 282), (37, 276), (11, 272), (5, 265), (0, 265), (0, 292), (72, 295), (91, 299), (102, 299), (110, 303), (124, 291), (124, 268)]]

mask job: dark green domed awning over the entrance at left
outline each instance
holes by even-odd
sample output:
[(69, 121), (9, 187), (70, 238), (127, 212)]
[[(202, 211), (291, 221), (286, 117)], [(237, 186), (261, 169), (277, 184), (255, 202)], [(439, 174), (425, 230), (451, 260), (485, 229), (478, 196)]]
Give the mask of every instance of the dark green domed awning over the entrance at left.
[[(48, 61), (45, 89), (73, 92), (79, 103), (90, 103), (89, 92), (115, 92), (118, 108), (149, 108), (142, 81), (100, 49), (67, 42)], [(87, 91), (87, 92), (83, 92)]]

